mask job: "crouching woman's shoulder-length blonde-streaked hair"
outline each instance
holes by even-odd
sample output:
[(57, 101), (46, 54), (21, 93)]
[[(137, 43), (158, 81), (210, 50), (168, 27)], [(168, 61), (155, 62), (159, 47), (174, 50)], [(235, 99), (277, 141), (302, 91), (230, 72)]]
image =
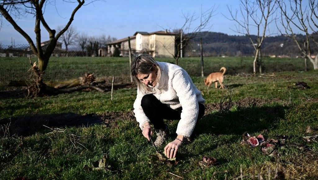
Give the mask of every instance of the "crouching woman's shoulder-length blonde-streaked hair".
[(149, 74), (152, 70), (156, 71), (157, 78), (155, 82), (158, 84), (158, 79), (161, 77), (161, 70), (158, 63), (152, 56), (142, 54), (136, 57), (130, 65), (131, 76), (134, 78), (138, 88), (143, 92), (151, 91), (151, 87), (142, 83), (136, 76), (138, 74)]

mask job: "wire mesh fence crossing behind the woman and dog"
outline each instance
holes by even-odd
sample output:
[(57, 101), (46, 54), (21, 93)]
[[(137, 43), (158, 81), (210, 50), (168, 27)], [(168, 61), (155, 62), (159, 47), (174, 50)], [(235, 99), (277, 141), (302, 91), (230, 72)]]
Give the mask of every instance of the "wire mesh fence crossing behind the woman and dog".
[[(237, 74), (241, 72), (252, 73), (252, 54), (248, 57), (240, 53), (238, 48), (229, 48), (228, 44), (205, 44), (203, 45), (203, 56), (219, 57), (218, 61), (209, 61), (204, 64), (204, 74), (219, 71), (220, 67), (227, 66), (228, 74)], [(247, 47), (246, 47), (247, 48)], [(252, 52), (252, 51), (251, 51)], [(27, 45), (16, 46), (0, 46), (0, 90), (10, 90), (10, 81), (30, 80), (31, 68), (29, 57), (33, 53)], [(45, 70), (44, 81), (66, 81), (83, 76), (85, 73), (93, 74), (95, 77), (105, 80), (106, 83), (112, 82), (112, 77), (115, 77), (114, 83), (129, 83), (130, 70), (128, 57), (125, 62), (115, 57), (109, 61), (107, 57), (98, 57), (98, 52), (90, 57), (85, 57), (87, 53), (83, 51), (54, 51), (48, 68)], [(110, 55), (111, 56), (111, 55)], [(135, 54), (136, 56), (136, 54)], [(201, 76), (200, 57), (201, 49), (198, 43), (189, 43), (184, 49), (183, 58), (179, 60), (178, 65), (183, 67), (190, 76)], [(225, 57), (222, 59), (222, 57)], [(160, 61), (159, 57), (156, 59)], [(194, 61), (186, 59), (196, 59)], [(269, 57), (267, 57), (269, 58)], [(34, 58), (32, 62), (36, 61)], [(171, 56), (163, 58), (162, 61), (175, 63), (175, 59)], [(119, 63), (120, 62), (120, 63)], [(303, 61), (300, 59), (286, 61), (277, 61), (267, 59), (263, 62), (263, 72), (277, 72), (284, 70), (299, 70)], [(310, 64), (309, 64), (310, 66)]]

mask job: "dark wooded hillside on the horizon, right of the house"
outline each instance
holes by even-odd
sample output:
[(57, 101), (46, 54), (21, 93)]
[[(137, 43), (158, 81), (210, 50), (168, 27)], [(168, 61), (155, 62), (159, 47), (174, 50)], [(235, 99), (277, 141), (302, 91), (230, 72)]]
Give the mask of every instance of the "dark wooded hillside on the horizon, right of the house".
[[(300, 41), (305, 38), (304, 35), (297, 35)], [(185, 57), (199, 56), (200, 38), (202, 37), (204, 56), (252, 56), (254, 48), (247, 36), (234, 36), (218, 32), (201, 32), (197, 37), (191, 39), (185, 48)], [(257, 36), (254, 36), (256, 39)], [(315, 34), (318, 39), (318, 34)], [(317, 53), (318, 48), (315, 46), (313, 52)], [(262, 47), (262, 56), (301, 56), (294, 41), (285, 36), (266, 37)]]

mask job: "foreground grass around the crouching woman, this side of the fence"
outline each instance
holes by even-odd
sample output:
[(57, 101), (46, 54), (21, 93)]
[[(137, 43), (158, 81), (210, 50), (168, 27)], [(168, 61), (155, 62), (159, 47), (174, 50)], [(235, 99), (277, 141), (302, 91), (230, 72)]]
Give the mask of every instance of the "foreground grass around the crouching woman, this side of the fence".
[[(72, 65), (86, 65), (87, 61)], [(118, 61), (127, 64), (128, 59)], [(194, 65), (196, 61), (198, 65)], [(48, 68), (66, 67), (72, 62), (54, 64), (52, 59)], [(191, 136), (192, 143), (179, 149), (177, 164), (149, 161), (148, 155), (156, 150), (142, 136), (135, 119), (118, 117), (107, 125), (47, 128), (26, 137), (1, 137), (0, 179), (317, 179), (318, 71), (301, 71), (302, 61), (274, 63), (268, 59), (268, 64), (264, 61), (266, 74), (249, 76), (246, 74), (251, 73), (251, 67), (248, 71), (235, 69), (247, 68), (239, 59), (207, 58), (205, 62), (206, 72), (217, 71), (220, 66), (228, 68), (226, 89), (206, 89), (199, 59), (180, 61), (202, 91), (206, 112)], [(284, 71), (287, 62), (293, 70)], [(104, 59), (90, 65), (95, 63), (100, 66)], [(274, 72), (268, 67), (280, 70)], [(310, 89), (296, 88), (298, 81), (308, 83)], [(37, 98), (2, 96), (0, 118), (68, 112), (129, 114), (135, 96), (134, 87), (114, 91), (113, 100), (110, 92), (95, 91)], [(178, 122), (166, 122), (172, 141)], [(308, 126), (311, 131), (306, 132)], [(274, 153), (267, 155), (260, 146), (241, 144), (246, 131), (251, 136), (262, 134), (267, 141), (277, 140)], [(311, 138), (304, 141), (306, 136)], [(215, 157), (219, 165), (201, 166), (203, 156)], [(93, 170), (92, 163), (103, 157), (106, 168)]]

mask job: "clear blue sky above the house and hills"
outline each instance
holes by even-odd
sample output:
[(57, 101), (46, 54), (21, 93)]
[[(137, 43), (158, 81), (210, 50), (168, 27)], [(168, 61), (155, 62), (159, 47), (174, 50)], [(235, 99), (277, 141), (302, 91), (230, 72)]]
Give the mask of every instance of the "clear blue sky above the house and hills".
[[(46, 6), (44, 17), (49, 26), (56, 29), (66, 24), (76, 4), (61, 0), (52, 2)], [(235, 29), (235, 22), (226, 18), (229, 17), (227, 5), (231, 6), (232, 10), (239, 9), (238, 0), (101, 0), (79, 9), (72, 25), (89, 37), (106, 35), (121, 39), (132, 36), (136, 31), (154, 32), (180, 28), (185, 22), (183, 14), (195, 14), (199, 17), (201, 11), (214, 7), (214, 16), (210, 20), (209, 29), (206, 30), (239, 35), (231, 30)], [(35, 39), (32, 16), (20, 17), (17, 23), (32, 39)], [(196, 27), (197, 23), (198, 21), (191, 27)], [(41, 32), (42, 41), (48, 40), (46, 30), (42, 28)], [(252, 31), (252, 34), (256, 32)], [(24, 37), (3, 19), (0, 43), (10, 45), (11, 39), (14, 40), (15, 45), (27, 43)]]

